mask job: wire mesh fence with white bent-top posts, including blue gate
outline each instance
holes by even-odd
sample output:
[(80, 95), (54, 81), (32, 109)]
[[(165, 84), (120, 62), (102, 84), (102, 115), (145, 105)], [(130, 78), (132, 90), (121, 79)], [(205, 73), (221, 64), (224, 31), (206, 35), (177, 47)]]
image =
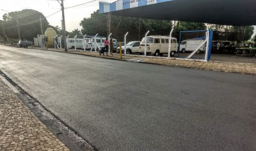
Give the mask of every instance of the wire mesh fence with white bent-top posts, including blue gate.
[[(202, 31), (181, 31), (178, 38), (176, 38), (173, 29), (169, 32), (169, 35), (155, 35), (153, 32), (147, 31), (147, 33), (144, 33), (144, 36), (140, 36), (140, 40), (131, 41), (134, 36), (138, 35), (127, 32), (123, 35), (123, 41), (115, 41), (114, 52), (120, 53), (119, 44), (122, 43), (122, 53), (124, 55), (143, 55), (151, 58), (178, 57), (179, 59), (184, 58), (186, 60), (196, 59), (209, 61), (212, 33), (213, 31), (211, 30), (209, 32), (208, 29)], [(83, 45), (81, 45), (81, 48), (77, 47), (76, 36), (72, 39), (75, 41), (75, 50), (97, 52), (94, 51), (94, 49), (100, 50), (101, 47), (104, 47), (105, 37), (101, 37), (103, 41), (98, 42), (97, 40), (100, 40), (99, 37), (97, 39), (98, 34), (91, 38), (94, 42), (88, 42), (88, 45), (90, 43), (90, 47), (85, 47), (85, 36), (83, 37), (83, 42), (81, 43)], [(111, 37), (113, 37), (114, 40), (118, 39), (116, 36), (112, 36), (112, 33), (108, 37), (109, 39)]]

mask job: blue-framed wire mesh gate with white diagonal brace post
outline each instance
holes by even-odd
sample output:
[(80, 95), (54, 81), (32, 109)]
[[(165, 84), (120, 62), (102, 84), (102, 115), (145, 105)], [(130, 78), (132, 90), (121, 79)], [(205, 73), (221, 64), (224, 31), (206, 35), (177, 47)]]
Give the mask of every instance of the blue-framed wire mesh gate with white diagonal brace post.
[(202, 31), (180, 31), (179, 58), (208, 60), (207, 44), (209, 43), (209, 32)]

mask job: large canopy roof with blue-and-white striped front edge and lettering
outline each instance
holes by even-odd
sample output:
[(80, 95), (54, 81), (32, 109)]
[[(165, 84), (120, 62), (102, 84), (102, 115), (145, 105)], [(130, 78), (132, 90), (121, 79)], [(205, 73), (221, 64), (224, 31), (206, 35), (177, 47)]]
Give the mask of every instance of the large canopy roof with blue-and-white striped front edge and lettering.
[(220, 25), (256, 25), (256, 0), (118, 0), (99, 13)]

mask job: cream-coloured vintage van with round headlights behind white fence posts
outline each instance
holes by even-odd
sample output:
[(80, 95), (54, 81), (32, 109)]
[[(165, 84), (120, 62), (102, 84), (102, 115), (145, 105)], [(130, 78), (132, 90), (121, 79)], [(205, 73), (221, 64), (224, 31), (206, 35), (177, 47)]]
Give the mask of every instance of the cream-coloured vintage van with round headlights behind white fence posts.
[[(144, 38), (140, 43), (140, 54), (144, 53)], [(163, 56), (168, 54), (169, 36), (147, 36), (147, 54), (154, 54), (154, 56)], [(171, 56), (177, 53), (178, 44), (176, 38), (171, 38)]]

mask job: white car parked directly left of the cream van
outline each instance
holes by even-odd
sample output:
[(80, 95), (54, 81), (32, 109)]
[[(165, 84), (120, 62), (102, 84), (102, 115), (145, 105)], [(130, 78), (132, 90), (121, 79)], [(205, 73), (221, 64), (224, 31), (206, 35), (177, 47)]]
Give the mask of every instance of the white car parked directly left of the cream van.
[[(126, 54), (139, 53), (140, 41), (131, 41), (126, 44)], [(124, 54), (124, 45), (122, 46), (122, 53)], [(120, 47), (117, 47), (116, 53), (119, 53)]]

